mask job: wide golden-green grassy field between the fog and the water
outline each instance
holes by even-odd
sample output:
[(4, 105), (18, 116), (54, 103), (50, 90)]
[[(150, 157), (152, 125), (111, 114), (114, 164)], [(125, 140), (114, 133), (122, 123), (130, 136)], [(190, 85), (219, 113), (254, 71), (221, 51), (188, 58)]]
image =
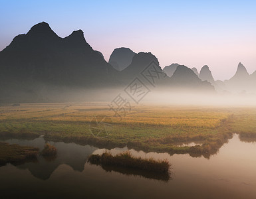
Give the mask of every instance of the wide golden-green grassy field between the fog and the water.
[[(124, 147), (144, 151), (216, 153), (233, 133), (256, 137), (255, 108), (135, 105), (122, 119), (106, 103), (36, 103), (0, 107), (0, 136)], [(98, 121), (104, 119), (108, 125)], [(97, 127), (98, 129), (95, 129)], [(107, 130), (106, 130), (107, 128)], [(96, 136), (97, 135), (97, 136)], [(200, 143), (188, 146), (182, 143)]]

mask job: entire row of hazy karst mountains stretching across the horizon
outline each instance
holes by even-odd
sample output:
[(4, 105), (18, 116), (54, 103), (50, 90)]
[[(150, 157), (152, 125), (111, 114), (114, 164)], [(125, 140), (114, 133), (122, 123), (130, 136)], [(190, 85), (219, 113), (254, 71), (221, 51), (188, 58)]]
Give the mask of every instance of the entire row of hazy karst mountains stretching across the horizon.
[[(215, 82), (208, 66), (203, 66), (200, 74), (196, 68), (179, 64), (162, 70), (158, 58), (151, 52), (136, 54), (130, 48), (116, 48), (109, 62), (116, 61), (122, 66), (121, 71), (106, 62), (101, 52), (93, 50), (81, 30), (61, 38), (49, 24), (39, 23), (27, 34), (15, 36), (0, 52), (0, 100), (26, 101), (24, 99), (29, 98), (29, 101), (40, 101), (42, 98), (47, 101), (47, 94), (55, 96), (60, 91), (123, 88), (136, 77), (145, 80), (142, 71), (151, 62), (160, 73), (168, 75), (157, 81), (166, 91), (180, 88), (213, 91), (213, 86), (216, 90), (229, 91), (233, 85), (239, 85), (240, 91), (255, 90), (256, 72), (249, 75), (241, 63), (233, 78)], [(147, 81), (145, 84), (150, 86)]]

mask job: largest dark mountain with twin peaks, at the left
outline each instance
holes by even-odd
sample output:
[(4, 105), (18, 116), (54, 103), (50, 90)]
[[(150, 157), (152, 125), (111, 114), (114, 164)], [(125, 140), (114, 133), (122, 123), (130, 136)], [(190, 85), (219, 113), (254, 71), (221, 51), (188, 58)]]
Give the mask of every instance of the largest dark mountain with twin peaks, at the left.
[(41, 90), (52, 86), (113, 86), (118, 76), (86, 42), (81, 30), (61, 38), (45, 22), (33, 26), (27, 34), (16, 36), (0, 52), (0, 70), (0, 91), (5, 99), (22, 98), (22, 94), (37, 98)]

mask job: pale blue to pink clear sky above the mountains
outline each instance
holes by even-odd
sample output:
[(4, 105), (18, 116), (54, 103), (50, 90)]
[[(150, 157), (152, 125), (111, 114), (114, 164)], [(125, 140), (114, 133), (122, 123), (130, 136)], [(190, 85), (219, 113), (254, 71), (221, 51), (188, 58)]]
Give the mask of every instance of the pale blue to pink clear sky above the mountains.
[(126, 46), (152, 52), (161, 66), (208, 64), (221, 80), (239, 62), (256, 70), (256, 1), (0, 0), (0, 50), (41, 21), (61, 37), (82, 29), (106, 60)]

